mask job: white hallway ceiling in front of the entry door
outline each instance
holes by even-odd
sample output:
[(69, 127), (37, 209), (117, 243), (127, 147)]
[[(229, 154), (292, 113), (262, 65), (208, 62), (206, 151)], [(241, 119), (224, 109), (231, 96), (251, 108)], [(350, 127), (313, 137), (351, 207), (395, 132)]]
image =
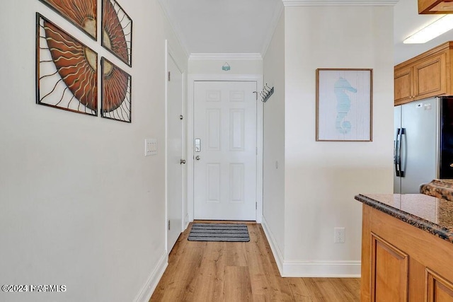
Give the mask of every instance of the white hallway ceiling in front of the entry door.
[(161, 0), (189, 54), (260, 53), (282, 0)]

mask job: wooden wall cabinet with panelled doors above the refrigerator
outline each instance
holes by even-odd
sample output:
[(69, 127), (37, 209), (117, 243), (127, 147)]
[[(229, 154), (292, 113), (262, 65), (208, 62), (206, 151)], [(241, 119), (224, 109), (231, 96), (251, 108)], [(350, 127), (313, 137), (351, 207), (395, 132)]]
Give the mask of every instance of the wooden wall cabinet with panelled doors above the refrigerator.
[(395, 105), (432, 96), (453, 95), (453, 42), (398, 64), (394, 69)]

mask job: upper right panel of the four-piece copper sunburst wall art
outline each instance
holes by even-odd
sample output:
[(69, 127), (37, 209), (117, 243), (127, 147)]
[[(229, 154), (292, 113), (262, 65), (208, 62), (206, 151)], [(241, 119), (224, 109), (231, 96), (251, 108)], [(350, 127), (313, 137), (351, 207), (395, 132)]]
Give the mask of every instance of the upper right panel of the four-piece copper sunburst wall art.
[(132, 19), (115, 0), (102, 0), (101, 33), (102, 46), (132, 66)]

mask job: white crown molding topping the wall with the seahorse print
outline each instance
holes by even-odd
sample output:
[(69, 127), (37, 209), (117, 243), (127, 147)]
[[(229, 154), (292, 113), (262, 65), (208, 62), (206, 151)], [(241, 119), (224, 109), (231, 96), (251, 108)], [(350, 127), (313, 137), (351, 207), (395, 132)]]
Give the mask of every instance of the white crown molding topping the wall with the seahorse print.
[(398, 0), (282, 0), (284, 6), (394, 6)]

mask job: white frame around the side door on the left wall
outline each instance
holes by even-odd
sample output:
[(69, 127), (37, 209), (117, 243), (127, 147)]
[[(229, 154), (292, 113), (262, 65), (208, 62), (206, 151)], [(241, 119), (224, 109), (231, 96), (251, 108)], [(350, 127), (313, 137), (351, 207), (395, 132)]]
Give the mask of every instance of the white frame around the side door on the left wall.
[[(186, 72), (185, 69), (181, 68), (180, 62), (178, 62), (178, 59), (176, 59), (176, 54), (172, 50), (171, 45), (169, 44), (168, 40), (165, 40), (165, 246), (166, 246), (166, 253), (170, 252), (168, 250), (168, 59), (171, 57), (173, 59), (173, 62), (175, 62), (176, 67), (178, 67), (183, 79), (182, 79), (182, 88), (183, 88), (183, 93), (181, 95), (181, 98), (183, 99), (183, 112), (181, 114), (183, 115), (183, 137), (182, 137), (182, 143), (183, 143), (183, 156), (187, 158), (187, 119), (185, 119), (186, 111), (187, 111), (187, 98), (186, 98)], [(187, 180), (188, 180), (188, 174), (187, 174), (187, 168), (183, 170), (183, 200), (181, 200), (182, 204), (182, 211), (181, 211), (181, 225), (180, 225), (180, 232), (182, 233), (186, 226), (188, 225), (187, 222), (187, 215), (184, 215), (184, 213), (187, 211)], [(175, 226), (176, 227), (176, 226)]]

